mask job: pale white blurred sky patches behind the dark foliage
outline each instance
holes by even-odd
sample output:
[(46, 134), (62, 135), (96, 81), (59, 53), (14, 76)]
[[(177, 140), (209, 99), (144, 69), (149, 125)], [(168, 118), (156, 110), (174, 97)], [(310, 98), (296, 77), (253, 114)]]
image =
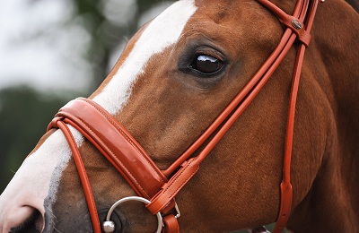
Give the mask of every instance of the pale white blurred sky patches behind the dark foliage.
[[(135, 0), (103, 3), (109, 20), (132, 20)], [(140, 24), (168, 5), (162, 2), (150, 9)], [(73, 11), (69, 0), (0, 0), (0, 89), (23, 83), (48, 91), (89, 87), (91, 69), (83, 59), (89, 35), (80, 26), (64, 25)]]

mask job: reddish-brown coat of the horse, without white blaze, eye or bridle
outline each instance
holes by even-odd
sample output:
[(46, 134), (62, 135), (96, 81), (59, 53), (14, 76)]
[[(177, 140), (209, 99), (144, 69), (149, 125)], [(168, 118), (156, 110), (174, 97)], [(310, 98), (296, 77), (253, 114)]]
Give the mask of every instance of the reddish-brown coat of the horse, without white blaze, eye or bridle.
[[(293, 11), (293, 1), (276, 4), (287, 13)], [(177, 42), (148, 59), (131, 86), (127, 103), (114, 113), (163, 169), (243, 88), (284, 31), (276, 17), (255, 1), (197, 0), (195, 5), (197, 10)], [(128, 42), (92, 99), (106, 92), (118, 70), (126, 67), (137, 41), (152, 23)], [(358, 33), (358, 13), (348, 4), (339, 0), (320, 4), (304, 58), (295, 116), (293, 211), (287, 224), (294, 232), (359, 230)], [(276, 221), (295, 52), (293, 47), (178, 195), (181, 231), (251, 229)], [(223, 60), (223, 70), (211, 77), (188, 70), (188, 61), (197, 54)], [(100, 212), (134, 195), (89, 142), (83, 142), (81, 152)], [(56, 197), (48, 195), (45, 200), (46, 230), (91, 231), (76, 174), (70, 160)], [(124, 232), (156, 229), (155, 219), (142, 203), (121, 205), (117, 215)]]

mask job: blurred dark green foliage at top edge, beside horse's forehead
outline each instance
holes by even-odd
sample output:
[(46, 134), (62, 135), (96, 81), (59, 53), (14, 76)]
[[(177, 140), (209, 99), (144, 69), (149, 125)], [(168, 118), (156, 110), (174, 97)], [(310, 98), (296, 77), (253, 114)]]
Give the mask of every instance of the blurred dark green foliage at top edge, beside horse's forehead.
[[(92, 65), (93, 87), (98, 87), (109, 73), (112, 52), (123, 39), (131, 37), (138, 30), (140, 16), (154, 5), (166, 1), (73, 0), (73, 2), (75, 12), (72, 21), (80, 21), (91, 36), (85, 57)], [(170, 4), (173, 1), (167, 2)], [(130, 11), (130, 14), (124, 13), (126, 11)]]

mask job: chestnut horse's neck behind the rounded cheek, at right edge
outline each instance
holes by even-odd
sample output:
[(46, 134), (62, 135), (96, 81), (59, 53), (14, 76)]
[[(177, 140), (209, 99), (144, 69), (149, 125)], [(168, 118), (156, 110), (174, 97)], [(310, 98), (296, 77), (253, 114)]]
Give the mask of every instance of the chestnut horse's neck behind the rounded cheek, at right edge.
[(328, 138), (311, 191), (293, 210), (294, 232), (359, 228), (358, 31), (358, 14), (345, 2), (320, 4), (308, 54), (328, 100)]

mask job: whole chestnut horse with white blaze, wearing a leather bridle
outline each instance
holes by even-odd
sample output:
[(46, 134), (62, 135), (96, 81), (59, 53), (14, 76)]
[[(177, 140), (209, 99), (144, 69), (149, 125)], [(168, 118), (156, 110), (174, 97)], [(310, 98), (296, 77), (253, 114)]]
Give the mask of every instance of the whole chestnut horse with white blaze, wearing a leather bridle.
[[(359, 232), (359, 15), (342, 0), (298, 2), (180, 0), (144, 24), (101, 86), (62, 108), (23, 161), (0, 196), (1, 232), (264, 231), (282, 218), (276, 232)], [(298, 5), (315, 5), (311, 29), (310, 16), (292, 17), (306, 11)], [(236, 114), (231, 108), (211, 128), (287, 31), (293, 46), (263, 85), (252, 85), (255, 98), (243, 94), (251, 100), (200, 166), (186, 170)], [(301, 77), (296, 88), (293, 77)], [(77, 113), (88, 120), (70, 124)], [(92, 122), (98, 117), (106, 120)], [(123, 146), (96, 146), (96, 127), (125, 132), (107, 142)], [(102, 155), (114, 150), (134, 177), (114, 168), (125, 161)], [(147, 180), (156, 188), (144, 198)], [(166, 216), (174, 218), (162, 223)], [(96, 218), (108, 225), (99, 229)]]

